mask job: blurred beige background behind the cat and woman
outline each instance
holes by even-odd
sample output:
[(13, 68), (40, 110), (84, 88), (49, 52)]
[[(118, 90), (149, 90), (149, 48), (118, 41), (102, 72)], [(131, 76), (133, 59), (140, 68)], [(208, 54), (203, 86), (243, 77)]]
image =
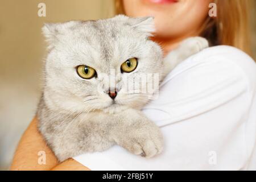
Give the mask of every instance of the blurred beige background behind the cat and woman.
[[(46, 4), (46, 17), (38, 16), (39, 3)], [(254, 60), (255, 9), (254, 3), (251, 13)], [(43, 23), (113, 15), (113, 0), (0, 1), (0, 170), (9, 168), (19, 138), (34, 117), (39, 101), (46, 48), (41, 33)]]

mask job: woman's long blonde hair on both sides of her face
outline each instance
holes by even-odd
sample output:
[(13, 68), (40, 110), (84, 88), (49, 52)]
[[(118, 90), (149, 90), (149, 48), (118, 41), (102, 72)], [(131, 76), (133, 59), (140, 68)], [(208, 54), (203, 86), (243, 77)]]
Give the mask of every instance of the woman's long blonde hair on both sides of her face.
[[(217, 17), (207, 16), (200, 36), (212, 46), (234, 46), (251, 55), (250, 0), (217, 0)], [(115, 14), (125, 14), (122, 0), (115, 0)]]

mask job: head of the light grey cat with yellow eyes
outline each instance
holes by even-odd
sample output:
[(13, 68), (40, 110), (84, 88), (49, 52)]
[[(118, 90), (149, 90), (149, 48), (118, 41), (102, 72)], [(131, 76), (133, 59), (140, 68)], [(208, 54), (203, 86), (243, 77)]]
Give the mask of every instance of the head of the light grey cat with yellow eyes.
[(144, 79), (138, 86), (136, 78), (142, 74), (162, 77), (162, 51), (148, 39), (153, 28), (152, 18), (127, 16), (46, 24), (47, 104), (74, 112), (142, 107), (152, 93), (127, 88), (135, 83), (143, 90), (152, 80)]

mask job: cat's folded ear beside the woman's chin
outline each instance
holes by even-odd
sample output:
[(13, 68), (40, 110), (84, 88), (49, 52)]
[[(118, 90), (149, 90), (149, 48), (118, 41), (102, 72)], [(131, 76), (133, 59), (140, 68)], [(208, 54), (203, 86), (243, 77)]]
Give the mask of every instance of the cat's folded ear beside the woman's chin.
[(133, 19), (132, 27), (136, 28), (137, 31), (144, 32), (147, 36), (152, 36), (151, 33), (155, 31), (154, 17), (147, 16), (131, 19)]

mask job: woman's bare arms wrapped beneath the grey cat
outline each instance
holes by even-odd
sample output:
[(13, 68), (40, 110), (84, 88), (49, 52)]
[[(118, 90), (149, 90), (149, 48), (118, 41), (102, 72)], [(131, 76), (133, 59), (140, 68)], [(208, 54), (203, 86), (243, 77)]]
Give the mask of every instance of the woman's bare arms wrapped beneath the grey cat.
[(73, 159), (59, 164), (39, 133), (37, 123), (34, 118), (20, 139), (11, 170), (89, 170)]

